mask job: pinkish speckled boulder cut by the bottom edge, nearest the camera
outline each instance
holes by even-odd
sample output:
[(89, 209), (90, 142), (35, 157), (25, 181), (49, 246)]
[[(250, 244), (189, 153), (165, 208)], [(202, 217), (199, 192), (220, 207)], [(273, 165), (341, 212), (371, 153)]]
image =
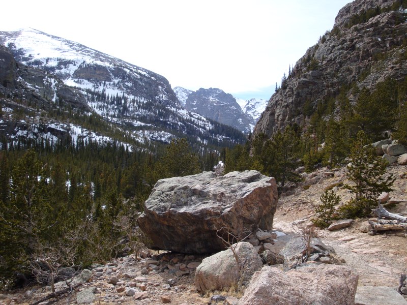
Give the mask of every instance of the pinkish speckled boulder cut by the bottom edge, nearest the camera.
[(337, 265), (306, 265), (283, 272), (264, 266), (254, 273), (238, 304), (351, 305), (358, 276)]

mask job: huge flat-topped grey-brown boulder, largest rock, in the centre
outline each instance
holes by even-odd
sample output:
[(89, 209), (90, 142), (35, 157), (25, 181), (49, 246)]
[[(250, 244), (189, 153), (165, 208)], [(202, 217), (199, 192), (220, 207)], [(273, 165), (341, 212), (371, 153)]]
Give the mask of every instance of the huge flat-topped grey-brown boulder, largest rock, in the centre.
[(157, 182), (137, 223), (151, 249), (215, 253), (225, 249), (217, 230), (272, 229), (277, 199), (275, 179), (254, 170), (173, 177)]

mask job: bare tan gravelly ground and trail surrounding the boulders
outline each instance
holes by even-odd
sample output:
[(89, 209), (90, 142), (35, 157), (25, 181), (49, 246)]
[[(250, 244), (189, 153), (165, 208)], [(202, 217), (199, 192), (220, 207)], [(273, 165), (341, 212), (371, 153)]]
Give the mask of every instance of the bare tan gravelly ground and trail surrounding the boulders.
[[(296, 232), (310, 223), (319, 196), (326, 188), (333, 188), (345, 202), (351, 193), (341, 187), (345, 168), (321, 168), (306, 176), (303, 184), (287, 190), (279, 198), (274, 216), (274, 228), (285, 233)], [(407, 214), (407, 166), (388, 167), (397, 179), (390, 193), (392, 211)], [(329, 173), (329, 174), (327, 174)], [(350, 227), (337, 231), (317, 230), (326, 245), (334, 248), (338, 258), (359, 275), (359, 286), (388, 286), (397, 288), (398, 279), (407, 270), (407, 242), (403, 234), (382, 233), (370, 236), (361, 233), (364, 219), (356, 220)], [(205, 256), (154, 252), (144, 258), (128, 256), (94, 265), (92, 272), (84, 272), (84, 281), (78, 292), (60, 303), (104, 304), (208, 304), (211, 295), (200, 295), (194, 286), (194, 272)], [(61, 283), (62, 284), (62, 283)], [(57, 284), (57, 289), (64, 288)], [(32, 304), (45, 297), (50, 287), (27, 287), (24, 290), (3, 292), (0, 303)], [(220, 292), (215, 292), (218, 294)], [(223, 295), (240, 297), (234, 293)], [(233, 298), (223, 303), (233, 303)], [(236, 299), (235, 299), (236, 300)], [(43, 303), (45, 304), (45, 303)]]

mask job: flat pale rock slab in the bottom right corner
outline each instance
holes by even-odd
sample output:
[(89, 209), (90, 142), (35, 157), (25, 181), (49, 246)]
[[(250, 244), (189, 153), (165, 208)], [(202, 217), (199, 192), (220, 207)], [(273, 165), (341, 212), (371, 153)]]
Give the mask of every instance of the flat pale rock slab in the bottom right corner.
[(407, 305), (407, 301), (394, 289), (384, 286), (360, 286), (355, 305)]

